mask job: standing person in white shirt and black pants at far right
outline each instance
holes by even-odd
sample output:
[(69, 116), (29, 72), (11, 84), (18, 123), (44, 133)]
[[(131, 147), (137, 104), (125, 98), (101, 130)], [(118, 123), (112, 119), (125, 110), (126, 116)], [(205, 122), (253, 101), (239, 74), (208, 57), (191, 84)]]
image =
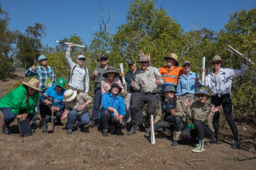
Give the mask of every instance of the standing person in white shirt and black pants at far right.
[[(235, 139), (235, 143), (232, 147), (237, 149), (240, 146), (240, 140), (238, 137), (238, 128), (232, 118), (231, 85), (234, 77), (245, 74), (247, 71), (247, 63), (245, 57), (243, 57), (241, 69), (230, 69), (221, 68), (223, 62), (224, 60), (222, 60), (219, 55), (215, 55), (213, 60), (210, 60), (210, 63), (213, 64), (213, 71), (209, 72), (206, 76), (205, 86), (208, 86), (210, 89), (211, 103), (214, 106), (220, 106), (220, 104), (223, 106), (225, 118), (228, 121), (228, 125)], [(210, 140), (211, 143), (218, 142), (219, 118), (220, 113), (216, 112), (213, 116), (213, 128), (215, 131), (213, 139)]]

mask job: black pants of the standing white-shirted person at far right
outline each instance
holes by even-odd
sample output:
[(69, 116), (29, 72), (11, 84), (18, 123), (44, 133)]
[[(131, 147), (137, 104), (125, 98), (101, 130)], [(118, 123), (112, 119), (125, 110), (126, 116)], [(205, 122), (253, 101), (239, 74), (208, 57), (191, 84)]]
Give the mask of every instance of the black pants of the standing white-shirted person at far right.
[[(233, 132), (233, 136), (235, 140), (238, 140), (238, 128), (235, 125), (235, 122), (232, 118), (232, 103), (230, 94), (222, 94), (220, 97), (218, 95), (211, 96), (210, 101), (215, 106), (223, 106), (223, 111), (225, 113), (225, 118), (228, 121), (228, 125)], [(220, 119), (220, 112), (216, 112), (213, 116), (213, 128), (214, 128), (214, 137), (218, 139), (218, 128), (219, 128), (219, 119)]]

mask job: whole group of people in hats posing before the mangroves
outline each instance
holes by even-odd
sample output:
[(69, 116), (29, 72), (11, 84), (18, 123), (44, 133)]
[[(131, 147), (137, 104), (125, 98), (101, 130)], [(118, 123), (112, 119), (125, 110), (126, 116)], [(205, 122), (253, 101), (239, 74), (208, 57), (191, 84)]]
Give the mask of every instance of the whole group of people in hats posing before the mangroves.
[[(172, 132), (171, 145), (194, 139), (197, 142), (192, 152), (202, 152), (205, 137), (211, 137), (211, 143), (218, 142), (218, 122), (223, 108), (235, 140), (232, 147), (240, 147), (238, 129), (232, 118), (230, 93), (233, 77), (245, 74), (247, 70), (245, 58), (241, 69), (229, 69), (222, 68), (224, 60), (215, 55), (210, 60), (213, 71), (202, 77), (205, 81), (203, 85), (198, 74), (191, 72), (191, 62), (186, 60), (182, 67), (178, 67), (175, 53), (164, 57), (166, 66), (158, 69), (152, 66), (150, 53), (140, 51), (137, 60), (139, 68), (136, 62), (130, 60), (126, 74), (119, 74), (108, 64), (107, 55), (101, 55), (100, 67), (90, 74), (84, 66), (84, 55), (77, 57), (77, 64), (71, 60), (73, 45), (70, 42), (65, 55), (70, 65), (69, 89), (64, 89), (65, 79), (56, 81), (53, 68), (47, 65), (48, 59), (44, 55), (39, 56), (40, 65), (35, 67), (33, 64), (25, 74), (26, 77), (36, 75), (38, 79), (22, 81), (22, 86), (0, 99), (0, 110), (4, 114), (2, 132), (11, 133), (9, 125), (15, 118), (29, 118), (33, 120), (31, 125), (35, 125), (37, 108), (41, 115), (42, 132), (47, 132), (47, 115), (53, 113), (55, 125), (63, 125), (61, 120), (68, 118), (68, 134), (73, 132), (75, 125), (81, 132), (89, 132), (89, 128), (98, 126), (104, 137), (110, 132), (123, 135), (123, 128), (127, 129), (127, 135), (133, 135), (137, 130), (149, 133), (150, 118), (154, 115), (154, 130), (161, 132), (169, 128)], [(125, 94), (122, 77), (127, 87)], [(92, 114), (87, 108), (92, 103), (92, 97), (88, 95), (90, 80), (95, 81)], [(208, 86), (210, 94), (203, 86)], [(146, 115), (143, 116), (142, 108), (146, 103)], [(160, 113), (156, 113), (158, 105), (161, 105)], [(139, 128), (141, 126), (144, 128)]]

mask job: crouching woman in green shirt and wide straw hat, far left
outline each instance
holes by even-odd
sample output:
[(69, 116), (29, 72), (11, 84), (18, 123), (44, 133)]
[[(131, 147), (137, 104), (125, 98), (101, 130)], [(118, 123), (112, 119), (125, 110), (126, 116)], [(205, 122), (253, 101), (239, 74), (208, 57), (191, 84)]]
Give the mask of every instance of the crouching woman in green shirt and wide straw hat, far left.
[(6, 94), (0, 99), (0, 110), (4, 114), (4, 124), (2, 126), (2, 132), (10, 135), (9, 125), (15, 120), (29, 120), (33, 118), (36, 103), (38, 102), (39, 92), (38, 79), (32, 78), (28, 82), (22, 81), (21, 86), (18, 86), (12, 90), (9, 94)]

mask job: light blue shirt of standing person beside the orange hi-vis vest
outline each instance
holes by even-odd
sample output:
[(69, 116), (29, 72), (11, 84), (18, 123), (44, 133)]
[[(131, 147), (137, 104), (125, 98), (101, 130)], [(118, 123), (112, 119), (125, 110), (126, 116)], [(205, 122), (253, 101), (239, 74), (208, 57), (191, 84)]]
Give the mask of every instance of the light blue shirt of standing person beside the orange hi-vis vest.
[(197, 73), (189, 72), (188, 77), (186, 74), (182, 74), (178, 77), (177, 85), (177, 95), (181, 96), (183, 94), (196, 94), (196, 89), (201, 88), (201, 80), (199, 80), (200, 86), (196, 84)]

